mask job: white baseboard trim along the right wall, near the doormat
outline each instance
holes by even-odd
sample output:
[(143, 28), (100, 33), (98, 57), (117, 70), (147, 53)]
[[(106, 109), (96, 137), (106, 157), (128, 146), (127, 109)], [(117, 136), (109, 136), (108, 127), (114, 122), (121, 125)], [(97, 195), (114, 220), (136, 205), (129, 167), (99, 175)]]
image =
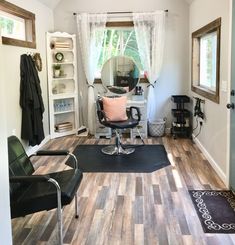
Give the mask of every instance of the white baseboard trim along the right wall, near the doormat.
[(209, 154), (209, 152), (206, 150), (206, 148), (202, 145), (202, 143), (198, 140), (198, 138), (195, 138), (194, 135), (192, 136), (194, 142), (198, 146), (198, 148), (201, 150), (201, 152), (204, 154), (212, 168), (215, 170), (215, 172), (219, 175), (221, 180), (224, 182), (224, 184), (227, 183), (226, 174), (221, 170), (219, 165), (216, 163), (216, 161), (213, 159), (213, 157)]

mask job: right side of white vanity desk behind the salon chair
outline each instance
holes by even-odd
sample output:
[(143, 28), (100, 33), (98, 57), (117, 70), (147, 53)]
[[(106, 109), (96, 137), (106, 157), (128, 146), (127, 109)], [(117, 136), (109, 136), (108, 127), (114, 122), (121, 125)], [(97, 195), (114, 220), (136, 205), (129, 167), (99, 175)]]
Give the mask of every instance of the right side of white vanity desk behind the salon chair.
[[(139, 125), (136, 128), (131, 129), (131, 139), (140, 136), (138, 133), (138, 130), (141, 134), (142, 138), (148, 137), (148, 128), (147, 128), (147, 101), (146, 100), (128, 100), (127, 106), (136, 106), (140, 109), (140, 122)], [(137, 130), (138, 129), (138, 130)]]

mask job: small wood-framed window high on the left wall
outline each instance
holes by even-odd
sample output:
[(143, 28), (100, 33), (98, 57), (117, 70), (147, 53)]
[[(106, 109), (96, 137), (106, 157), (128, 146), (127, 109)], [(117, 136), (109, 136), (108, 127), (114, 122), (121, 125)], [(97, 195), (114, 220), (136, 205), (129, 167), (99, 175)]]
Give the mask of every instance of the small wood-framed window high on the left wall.
[(35, 15), (9, 2), (0, 2), (2, 43), (36, 48)]

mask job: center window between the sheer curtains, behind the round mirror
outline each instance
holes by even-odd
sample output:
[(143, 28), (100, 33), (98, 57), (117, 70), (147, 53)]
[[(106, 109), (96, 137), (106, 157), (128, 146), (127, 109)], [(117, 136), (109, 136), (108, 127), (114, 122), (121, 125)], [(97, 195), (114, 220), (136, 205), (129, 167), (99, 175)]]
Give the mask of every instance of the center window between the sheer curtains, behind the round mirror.
[(140, 68), (140, 70), (143, 70), (139, 57), (133, 22), (107, 23), (102, 52), (99, 58), (96, 72), (96, 78), (98, 78), (96, 79), (96, 82), (101, 77), (103, 64), (111, 57), (117, 55), (131, 57)]

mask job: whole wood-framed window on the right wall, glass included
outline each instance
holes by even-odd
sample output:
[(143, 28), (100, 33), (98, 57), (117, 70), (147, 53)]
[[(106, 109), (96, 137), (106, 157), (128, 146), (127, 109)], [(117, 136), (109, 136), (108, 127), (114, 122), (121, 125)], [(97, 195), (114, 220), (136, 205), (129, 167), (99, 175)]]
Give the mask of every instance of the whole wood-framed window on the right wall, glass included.
[(221, 18), (192, 34), (192, 91), (219, 103)]

